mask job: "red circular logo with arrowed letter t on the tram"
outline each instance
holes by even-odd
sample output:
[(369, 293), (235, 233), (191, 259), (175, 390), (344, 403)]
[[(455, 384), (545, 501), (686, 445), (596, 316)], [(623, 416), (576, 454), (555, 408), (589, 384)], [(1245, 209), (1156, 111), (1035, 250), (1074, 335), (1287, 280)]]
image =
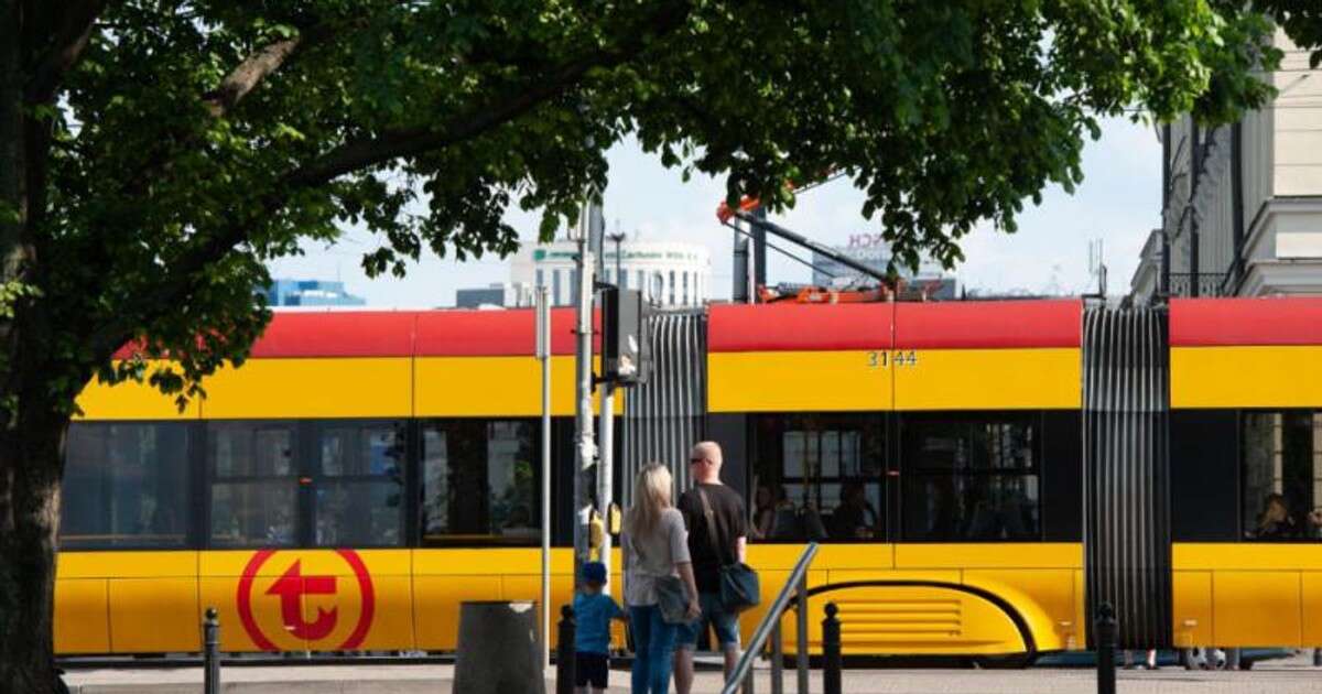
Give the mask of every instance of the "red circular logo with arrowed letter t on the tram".
[[(295, 553), (284, 553), (284, 555), (291, 554)], [(268, 560), (272, 560), (272, 558), (279, 560), (283, 555), (278, 550), (260, 550), (249, 559), (247, 566), (243, 567), (243, 576), (239, 579), (238, 595), (235, 598), (243, 631), (247, 632), (258, 648), (263, 650), (280, 650), (275, 645), (274, 638), (262, 631), (262, 625), (253, 611), (255, 600), (278, 600), (280, 623), (287, 633), (304, 641), (321, 641), (334, 633), (336, 627), (340, 625), (340, 607), (317, 607), (316, 615), (309, 616), (308, 611), (311, 611), (311, 607), (305, 609), (307, 599), (312, 596), (338, 598), (341, 590), (349, 595), (354, 590), (358, 592), (361, 599), (358, 621), (337, 648), (328, 648), (328, 650), (353, 650), (362, 644), (362, 640), (368, 636), (368, 629), (371, 628), (371, 616), (375, 611), (375, 592), (371, 586), (371, 575), (368, 572), (368, 567), (362, 563), (358, 553), (353, 550), (336, 550), (334, 554), (353, 572), (353, 579), (304, 572), (303, 560), (295, 557), (280, 574), (280, 578), (258, 595), (254, 595), (254, 592), (258, 592), (258, 572)]]

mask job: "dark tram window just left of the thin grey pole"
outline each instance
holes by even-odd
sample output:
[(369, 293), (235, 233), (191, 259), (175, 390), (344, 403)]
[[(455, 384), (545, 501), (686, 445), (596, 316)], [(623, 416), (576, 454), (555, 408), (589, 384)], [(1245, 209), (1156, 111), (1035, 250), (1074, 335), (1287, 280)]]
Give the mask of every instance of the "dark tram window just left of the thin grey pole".
[(424, 543), (539, 539), (539, 428), (533, 420), (448, 419), (424, 424)]

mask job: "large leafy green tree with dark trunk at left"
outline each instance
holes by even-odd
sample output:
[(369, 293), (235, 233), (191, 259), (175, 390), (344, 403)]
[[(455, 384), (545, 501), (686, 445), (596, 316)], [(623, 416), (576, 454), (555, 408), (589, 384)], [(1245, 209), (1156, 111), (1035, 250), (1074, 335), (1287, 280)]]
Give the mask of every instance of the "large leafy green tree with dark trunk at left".
[(1013, 231), (1076, 184), (1100, 118), (1263, 103), (1251, 69), (1278, 56), (1240, 7), (0, 0), (0, 693), (53, 686), (75, 397), (94, 377), (202, 397), (300, 242), (362, 225), (374, 274), (506, 254), (508, 208), (550, 234), (635, 134), (772, 208), (843, 171), (900, 258), (951, 262), (977, 222)]

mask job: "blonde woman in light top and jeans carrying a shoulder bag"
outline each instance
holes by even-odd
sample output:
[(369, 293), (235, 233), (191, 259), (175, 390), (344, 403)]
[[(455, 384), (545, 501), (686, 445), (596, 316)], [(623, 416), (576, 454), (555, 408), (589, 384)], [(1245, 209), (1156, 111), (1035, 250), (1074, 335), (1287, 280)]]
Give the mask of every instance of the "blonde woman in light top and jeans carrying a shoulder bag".
[(652, 463), (633, 482), (633, 506), (624, 518), (624, 604), (633, 631), (633, 694), (668, 694), (678, 624), (661, 619), (657, 582), (677, 576), (689, 598), (689, 620), (697, 619), (698, 586), (693, 580), (683, 516), (670, 505), (670, 471)]

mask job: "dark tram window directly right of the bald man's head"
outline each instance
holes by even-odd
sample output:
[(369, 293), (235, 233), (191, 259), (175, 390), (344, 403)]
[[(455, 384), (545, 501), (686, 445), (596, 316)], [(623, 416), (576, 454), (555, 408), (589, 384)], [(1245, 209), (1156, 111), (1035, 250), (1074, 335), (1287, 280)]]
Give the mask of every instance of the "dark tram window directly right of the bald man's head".
[(754, 427), (752, 539), (884, 537), (880, 415), (761, 415)]

